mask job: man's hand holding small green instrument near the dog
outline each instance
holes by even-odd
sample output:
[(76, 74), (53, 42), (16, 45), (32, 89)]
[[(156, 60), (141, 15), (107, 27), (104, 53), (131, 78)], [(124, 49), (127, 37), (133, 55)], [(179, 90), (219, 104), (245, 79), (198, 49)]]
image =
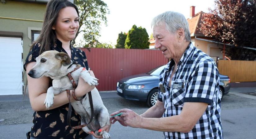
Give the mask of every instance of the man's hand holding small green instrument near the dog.
[(110, 121), (112, 121), (112, 124), (114, 124), (116, 121), (118, 121), (123, 126), (130, 126), (133, 128), (140, 127), (142, 117), (130, 109), (121, 109), (121, 110), (114, 112), (110, 115), (113, 116), (120, 112), (123, 112), (123, 114), (120, 116), (115, 116), (113, 118), (110, 118)]

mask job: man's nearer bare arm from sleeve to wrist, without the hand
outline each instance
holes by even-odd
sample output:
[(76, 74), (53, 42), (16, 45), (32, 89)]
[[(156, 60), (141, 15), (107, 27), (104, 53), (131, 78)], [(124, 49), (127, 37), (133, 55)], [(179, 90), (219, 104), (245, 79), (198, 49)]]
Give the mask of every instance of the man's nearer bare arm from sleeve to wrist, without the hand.
[(207, 103), (186, 102), (180, 115), (163, 118), (142, 118), (138, 128), (187, 133), (192, 130), (203, 115), (207, 105)]

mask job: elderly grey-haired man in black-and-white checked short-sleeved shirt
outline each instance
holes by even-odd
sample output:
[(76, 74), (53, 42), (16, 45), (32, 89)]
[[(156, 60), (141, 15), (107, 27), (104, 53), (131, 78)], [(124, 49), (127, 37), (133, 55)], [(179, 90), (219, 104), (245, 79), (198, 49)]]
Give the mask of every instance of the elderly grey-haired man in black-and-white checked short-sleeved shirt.
[(191, 43), (188, 23), (177, 12), (156, 16), (155, 48), (171, 59), (159, 76), (155, 106), (141, 115), (129, 109), (110, 120), (124, 126), (163, 131), (165, 138), (223, 138), (219, 73), (213, 59)]

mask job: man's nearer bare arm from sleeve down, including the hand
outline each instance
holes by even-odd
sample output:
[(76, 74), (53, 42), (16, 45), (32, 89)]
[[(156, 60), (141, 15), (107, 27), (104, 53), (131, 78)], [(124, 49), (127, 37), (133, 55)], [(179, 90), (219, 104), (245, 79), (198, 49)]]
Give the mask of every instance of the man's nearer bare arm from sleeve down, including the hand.
[[(196, 122), (203, 115), (207, 105), (207, 103), (201, 102), (186, 102), (183, 105), (180, 115), (163, 118), (144, 118), (132, 110), (122, 109), (119, 112), (123, 112), (123, 114), (120, 117), (116, 116), (115, 120), (118, 120), (119, 122), (121, 121), (125, 126), (134, 128), (187, 133), (192, 130)], [(149, 115), (148, 112), (145, 112), (142, 115), (152, 116)]]

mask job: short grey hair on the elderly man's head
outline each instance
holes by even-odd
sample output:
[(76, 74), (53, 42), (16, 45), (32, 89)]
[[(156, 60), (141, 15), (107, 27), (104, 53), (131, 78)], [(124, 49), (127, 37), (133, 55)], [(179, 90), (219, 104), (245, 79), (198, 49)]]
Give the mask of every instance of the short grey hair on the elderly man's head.
[(176, 32), (179, 28), (182, 28), (185, 32), (186, 41), (190, 42), (190, 32), (188, 28), (188, 22), (184, 15), (178, 12), (166, 11), (160, 15), (157, 15), (151, 22), (151, 27), (163, 25), (165, 23), (166, 29), (170, 33)]

